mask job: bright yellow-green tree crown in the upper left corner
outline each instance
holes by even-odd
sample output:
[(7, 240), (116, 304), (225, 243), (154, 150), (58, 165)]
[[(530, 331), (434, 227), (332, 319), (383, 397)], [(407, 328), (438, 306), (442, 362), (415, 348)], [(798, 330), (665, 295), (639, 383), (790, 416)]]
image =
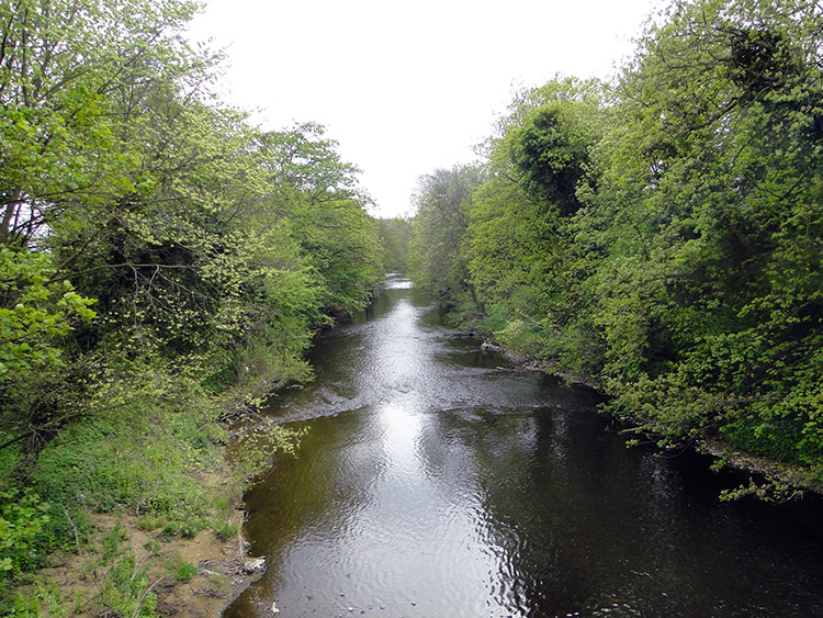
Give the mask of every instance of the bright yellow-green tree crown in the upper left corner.
[[(15, 0), (0, 7), (0, 244), (24, 245), (77, 209), (132, 189), (113, 93), (179, 57), (187, 1)], [(90, 27), (93, 24), (93, 27)], [(132, 176), (132, 178), (129, 178)]]

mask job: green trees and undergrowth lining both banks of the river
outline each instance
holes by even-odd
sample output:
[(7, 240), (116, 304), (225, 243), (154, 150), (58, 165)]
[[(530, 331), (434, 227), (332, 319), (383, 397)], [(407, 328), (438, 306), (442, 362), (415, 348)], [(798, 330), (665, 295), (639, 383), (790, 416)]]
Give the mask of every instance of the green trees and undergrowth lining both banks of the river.
[[(225, 494), (298, 436), (229, 463), (226, 422), (308, 380), (314, 334), (407, 265), (639, 441), (785, 464), (734, 495), (823, 484), (819, 4), (674, 2), (612, 82), (517, 92), (476, 164), (420, 178), (410, 223), (369, 214), (322, 125), (222, 103), (196, 9), (0, 3), (0, 613), (37, 615), (14, 591), (89, 513), (236, 533)], [(140, 582), (106, 606), (154, 615)]]

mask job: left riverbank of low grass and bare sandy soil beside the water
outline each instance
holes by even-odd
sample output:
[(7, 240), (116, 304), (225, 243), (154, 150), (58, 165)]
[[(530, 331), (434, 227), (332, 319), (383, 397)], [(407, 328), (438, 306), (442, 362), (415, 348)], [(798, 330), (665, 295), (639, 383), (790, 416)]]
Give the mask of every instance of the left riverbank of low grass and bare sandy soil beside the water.
[[(243, 494), (272, 453), (293, 450), (295, 441), (288, 430), (266, 426), (244, 438), (238, 450), (232, 428), (255, 420), (238, 416), (247, 406), (230, 406), (234, 414), (224, 413), (222, 426), (205, 431), (205, 419), (228, 406), (215, 400), (206, 409), (210, 402), (200, 401), (203, 406), (187, 408), (187, 415), (159, 415), (150, 427), (105, 425), (100, 452), (84, 439), (90, 428), (74, 438), (67, 432), (59, 446), (50, 446), (54, 453), (44, 452), (42, 473), (59, 480), (55, 493), (49, 502), (38, 494), (31, 509), (21, 501), (16, 519), (3, 510), (12, 536), (0, 532), (7, 539), (18, 535), (10, 552), (50, 551), (37, 558), (43, 568), (21, 573), (2, 591), (0, 614), (213, 617), (260, 576), (264, 562), (250, 563), (243, 538)], [(74, 463), (81, 449), (86, 469)], [(53, 469), (56, 461), (60, 468)], [(18, 533), (26, 529), (27, 537)], [(66, 538), (48, 544), (52, 530), (66, 530)]]

